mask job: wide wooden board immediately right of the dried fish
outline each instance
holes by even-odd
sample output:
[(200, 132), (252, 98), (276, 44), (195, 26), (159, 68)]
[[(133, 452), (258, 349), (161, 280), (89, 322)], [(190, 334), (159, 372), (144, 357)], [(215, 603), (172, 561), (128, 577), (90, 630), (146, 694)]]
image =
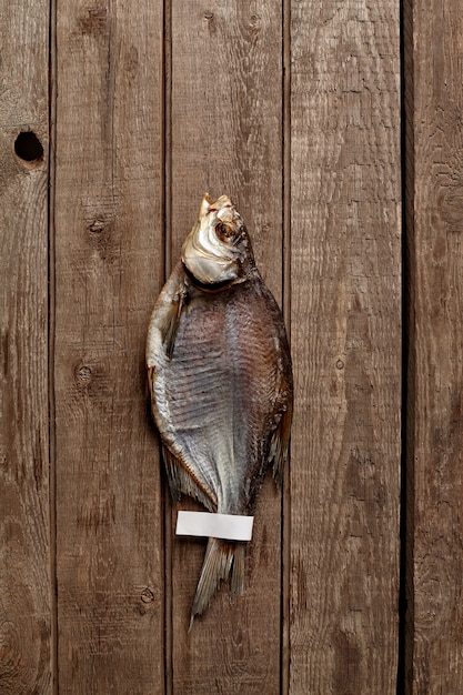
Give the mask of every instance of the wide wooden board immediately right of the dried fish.
[(399, 3), (293, 2), (290, 692), (394, 693)]

